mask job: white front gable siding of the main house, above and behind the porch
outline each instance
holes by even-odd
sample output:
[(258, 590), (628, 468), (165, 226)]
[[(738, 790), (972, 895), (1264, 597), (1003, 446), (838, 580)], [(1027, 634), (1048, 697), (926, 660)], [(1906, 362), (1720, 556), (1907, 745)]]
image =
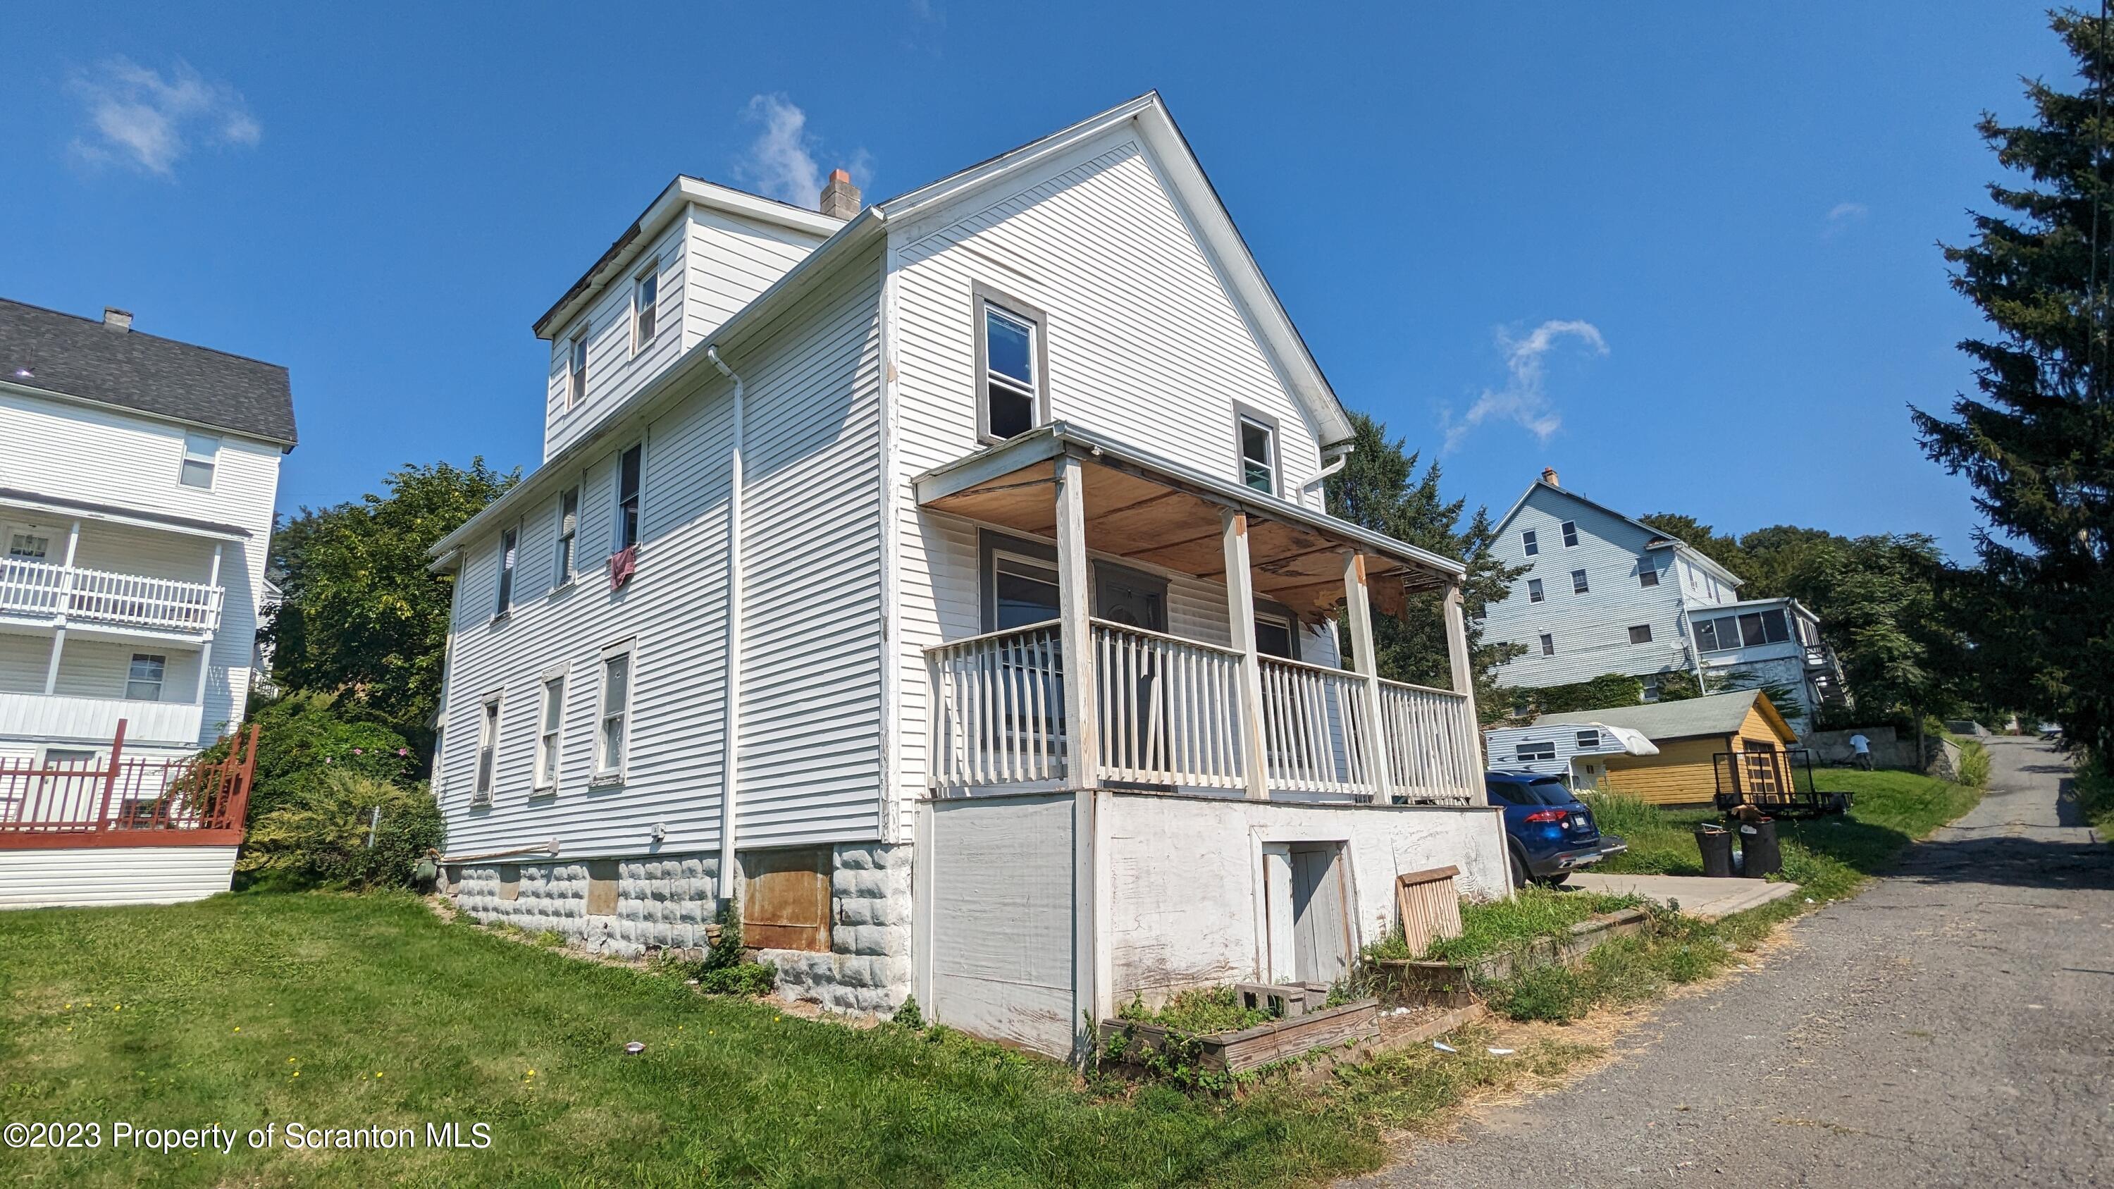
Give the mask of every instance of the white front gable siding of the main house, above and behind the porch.
[[(896, 791), (926, 791), (924, 647), (977, 635), (977, 529), (915, 506), (911, 478), (979, 449), (977, 326), (983, 286), (1046, 315), (1051, 417), (1241, 480), (1237, 406), (1279, 427), (1281, 495), (1321, 468), (1304, 406), (1285, 389), (1150, 152), (1125, 127), (890, 228), (896, 518)], [(1169, 626), (1226, 639), (1224, 590), (1175, 575)], [(1309, 633), (1309, 660), (1334, 637)], [(1302, 643), (1306, 647), (1306, 643)], [(907, 840), (909, 812), (901, 815)]]

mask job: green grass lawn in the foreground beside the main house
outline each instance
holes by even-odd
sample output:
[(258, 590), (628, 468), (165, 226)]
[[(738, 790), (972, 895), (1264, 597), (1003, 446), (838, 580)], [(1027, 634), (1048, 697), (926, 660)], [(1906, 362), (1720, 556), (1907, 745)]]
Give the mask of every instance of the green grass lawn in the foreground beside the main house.
[[(0, 954), (0, 1121), (104, 1123), (99, 1151), (8, 1151), (8, 1183), (1292, 1185), (1376, 1168), (1380, 1126), (1573, 1056), (1391, 1058), (1239, 1100), (1095, 1085), (945, 1030), (706, 999), (404, 895), (6, 912)], [(112, 1151), (116, 1121), (459, 1121), (490, 1147), (163, 1155)]]

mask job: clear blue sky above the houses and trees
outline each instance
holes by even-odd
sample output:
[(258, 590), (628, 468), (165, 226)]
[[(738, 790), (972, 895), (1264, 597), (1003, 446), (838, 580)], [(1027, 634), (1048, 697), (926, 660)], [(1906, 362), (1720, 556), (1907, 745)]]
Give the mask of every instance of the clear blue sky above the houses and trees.
[(1450, 493), (1556, 465), (1966, 554), (1907, 423), (1970, 383), (1936, 243), (1987, 205), (1977, 114), (2067, 78), (2038, 6), (1981, 2), (175, 8), (11, 4), (0, 294), (288, 364), (285, 510), (533, 465), (528, 324), (676, 171), (879, 199), (1156, 87)]

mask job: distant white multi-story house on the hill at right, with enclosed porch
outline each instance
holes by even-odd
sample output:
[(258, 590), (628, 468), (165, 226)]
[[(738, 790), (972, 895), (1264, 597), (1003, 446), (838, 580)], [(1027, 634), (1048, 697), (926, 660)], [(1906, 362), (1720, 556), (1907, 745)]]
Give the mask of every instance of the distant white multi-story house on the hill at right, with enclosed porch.
[(1505, 512), (1490, 552), (1524, 567), (1512, 594), (1490, 603), (1484, 641), (1526, 652), (1497, 671), (1499, 685), (1569, 685), (1607, 673), (1643, 677), (1657, 698), (1664, 673), (1714, 690), (1772, 683), (1795, 690), (1784, 707), (1799, 734), (1822, 705), (1841, 702), (1841, 664), (1820, 620), (1797, 599), (1740, 599), (1740, 575), (1651, 525), (1564, 489), (1554, 470)]

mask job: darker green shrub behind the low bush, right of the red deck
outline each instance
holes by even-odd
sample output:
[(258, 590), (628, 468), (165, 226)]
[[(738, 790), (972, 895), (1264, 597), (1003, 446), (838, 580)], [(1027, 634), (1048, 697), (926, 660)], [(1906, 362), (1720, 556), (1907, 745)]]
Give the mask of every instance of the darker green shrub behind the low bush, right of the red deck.
[[(338, 707), (328, 694), (290, 694), (256, 709), (243, 724), (258, 728), (256, 781), (249, 787), (249, 823), (321, 789), (332, 772), (410, 787), (423, 760), (387, 726)], [(228, 740), (207, 749), (222, 760)]]

